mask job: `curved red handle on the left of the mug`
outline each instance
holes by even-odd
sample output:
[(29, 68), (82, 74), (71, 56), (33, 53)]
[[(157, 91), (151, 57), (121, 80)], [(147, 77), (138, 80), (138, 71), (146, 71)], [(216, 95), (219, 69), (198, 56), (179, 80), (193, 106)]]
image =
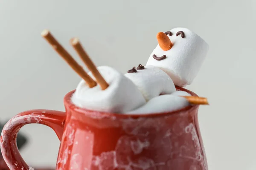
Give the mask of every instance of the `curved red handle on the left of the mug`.
[(47, 125), (61, 140), (66, 113), (51, 110), (30, 110), (17, 114), (3, 127), (0, 137), (1, 152), (11, 170), (34, 170), (21, 157), (17, 148), (17, 133), (21, 127), (31, 123)]

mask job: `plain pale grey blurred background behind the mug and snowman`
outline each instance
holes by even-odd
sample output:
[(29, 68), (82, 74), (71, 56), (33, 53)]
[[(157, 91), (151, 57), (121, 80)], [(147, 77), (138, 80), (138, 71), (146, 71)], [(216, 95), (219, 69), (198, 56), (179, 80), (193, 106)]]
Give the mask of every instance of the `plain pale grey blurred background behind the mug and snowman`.
[[(186, 27), (210, 47), (186, 87), (210, 102), (199, 110), (209, 170), (255, 170), (255, 16), (255, 0), (0, 1), (0, 121), (30, 109), (64, 111), (64, 95), (80, 81), (41, 38), (45, 28), (77, 60), (71, 37), (80, 38), (96, 65), (125, 73), (146, 63), (157, 32)], [(21, 151), (27, 163), (54, 167), (55, 133), (35, 124), (20, 132), (28, 137)]]

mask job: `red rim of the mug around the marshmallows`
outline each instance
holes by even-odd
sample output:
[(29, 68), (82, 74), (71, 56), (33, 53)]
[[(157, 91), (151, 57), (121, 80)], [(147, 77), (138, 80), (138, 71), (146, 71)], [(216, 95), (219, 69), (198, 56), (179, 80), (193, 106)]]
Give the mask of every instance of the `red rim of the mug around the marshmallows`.
[[(189, 91), (185, 88), (179, 87), (179, 86), (175, 86), (177, 91), (186, 91), (187, 93), (189, 93), (192, 96), (198, 96), (197, 94), (195, 94), (192, 91)], [(199, 108), (199, 105), (189, 105), (186, 106), (184, 108), (181, 108), (179, 110), (176, 111), (167, 111), (167, 112), (159, 112), (159, 113), (147, 113), (147, 114), (123, 114), (123, 113), (111, 113), (111, 112), (104, 112), (104, 111), (93, 111), (93, 110), (89, 110), (89, 109), (85, 109), (85, 108), (80, 108), (78, 106), (76, 106), (75, 104), (73, 104), (73, 102), (71, 101), (71, 97), (72, 95), (75, 93), (76, 90), (70, 91), (68, 92), (65, 96), (64, 96), (64, 105), (65, 108), (67, 110), (67, 108), (69, 108), (70, 110), (75, 111), (76, 113), (80, 113), (86, 116), (90, 116), (92, 118), (112, 118), (112, 119), (137, 119), (137, 118), (153, 118), (153, 117), (162, 117), (162, 116), (170, 116), (170, 115), (174, 115), (174, 114), (178, 114), (178, 113), (182, 113), (182, 112), (189, 112), (189, 113), (193, 113), (193, 111), (195, 109)]]

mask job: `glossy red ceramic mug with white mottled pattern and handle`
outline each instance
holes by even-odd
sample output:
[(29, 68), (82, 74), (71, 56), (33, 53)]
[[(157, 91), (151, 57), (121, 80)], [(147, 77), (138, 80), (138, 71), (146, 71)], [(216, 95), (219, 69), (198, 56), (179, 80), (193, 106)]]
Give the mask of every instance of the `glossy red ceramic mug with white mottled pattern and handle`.
[[(195, 93), (184, 88), (192, 96)], [(26, 124), (51, 127), (61, 140), (56, 170), (207, 170), (198, 105), (169, 113), (126, 115), (89, 111), (64, 97), (66, 112), (32, 110), (4, 126), (0, 144), (11, 170), (31, 170), (16, 145)]]

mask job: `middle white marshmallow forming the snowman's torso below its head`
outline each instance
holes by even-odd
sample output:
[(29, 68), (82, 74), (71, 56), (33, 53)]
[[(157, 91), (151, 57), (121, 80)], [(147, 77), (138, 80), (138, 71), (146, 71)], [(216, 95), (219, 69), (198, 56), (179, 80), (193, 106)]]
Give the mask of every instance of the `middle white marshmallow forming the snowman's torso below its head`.
[(145, 69), (137, 70), (136, 73), (126, 73), (125, 76), (134, 82), (146, 101), (160, 94), (171, 94), (176, 91), (172, 79), (152, 65), (147, 65)]

